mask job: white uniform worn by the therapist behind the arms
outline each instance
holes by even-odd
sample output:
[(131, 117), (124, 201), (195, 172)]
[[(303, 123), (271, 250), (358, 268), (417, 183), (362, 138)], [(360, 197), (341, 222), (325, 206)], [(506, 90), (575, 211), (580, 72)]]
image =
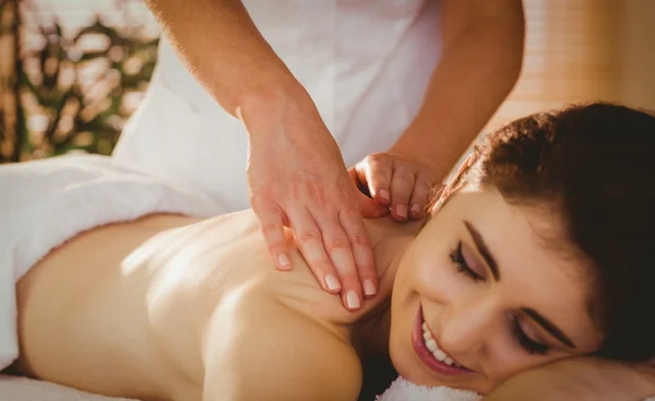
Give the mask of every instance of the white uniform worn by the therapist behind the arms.
[[(243, 4), (311, 95), (346, 166), (389, 149), (403, 133), (441, 54), (437, 1)], [(151, 85), (115, 157), (198, 185), (236, 211), (249, 207), (247, 146), (241, 122), (201, 87), (163, 38)]]

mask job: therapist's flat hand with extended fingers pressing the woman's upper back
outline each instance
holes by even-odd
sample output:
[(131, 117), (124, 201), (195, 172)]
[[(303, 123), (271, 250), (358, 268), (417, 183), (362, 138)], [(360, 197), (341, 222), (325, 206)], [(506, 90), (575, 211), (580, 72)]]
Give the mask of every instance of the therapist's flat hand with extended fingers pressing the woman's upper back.
[(344, 305), (358, 309), (362, 295), (378, 288), (359, 205), (369, 214), (386, 209), (357, 191), (309, 95), (276, 94), (238, 114), (250, 138), (251, 204), (275, 266), (291, 268), (283, 228), (288, 226), (322, 287), (341, 291)]

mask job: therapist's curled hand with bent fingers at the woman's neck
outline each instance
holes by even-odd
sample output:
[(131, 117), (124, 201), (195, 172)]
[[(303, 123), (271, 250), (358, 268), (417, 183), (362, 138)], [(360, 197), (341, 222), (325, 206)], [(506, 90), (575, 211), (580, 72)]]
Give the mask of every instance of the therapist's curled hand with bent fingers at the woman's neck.
[[(398, 222), (422, 219), (437, 175), (429, 166), (392, 152), (373, 153), (349, 169), (360, 190), (390, 208)], [(372, 210), (372, 213), (377, 213)], [(369, 217), (367, 208), (362, 208)], [(372, 217), (372, 216), (371, 216)]]

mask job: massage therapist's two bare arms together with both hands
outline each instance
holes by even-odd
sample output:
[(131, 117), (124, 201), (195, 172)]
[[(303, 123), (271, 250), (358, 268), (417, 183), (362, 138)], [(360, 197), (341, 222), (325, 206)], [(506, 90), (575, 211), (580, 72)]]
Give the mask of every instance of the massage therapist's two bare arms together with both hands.
[(312, 99), (240, 1), (146, 2), (194, 76), (248, 130), (251, 205), (275, 267), (291, 268), (287, 226), (323, 288), (341, 292), (349, 310), (379, 286), (362, 215), (391, 210), (396, 221), (419, 219), (431, 185), (445, 177), (521, 69), (521, 1), (443, 1), (442, 61), (419, 114), (384, 157), (366, 158), (348, 175)]

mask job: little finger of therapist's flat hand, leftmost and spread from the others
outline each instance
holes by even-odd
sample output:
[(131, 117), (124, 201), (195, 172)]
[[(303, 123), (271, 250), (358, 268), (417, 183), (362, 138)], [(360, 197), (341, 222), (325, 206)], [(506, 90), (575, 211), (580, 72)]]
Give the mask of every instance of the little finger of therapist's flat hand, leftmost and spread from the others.
[(291, 258), (286, 244), (284, 234), (284, 213), (279, 207), (273, 202), (267, 202), (260, 198), (251, 199), (252, 210), (257, 215), (264, 241), (269, 248), (269, 253), (275, 261), (278, 270), (290, 270)]

